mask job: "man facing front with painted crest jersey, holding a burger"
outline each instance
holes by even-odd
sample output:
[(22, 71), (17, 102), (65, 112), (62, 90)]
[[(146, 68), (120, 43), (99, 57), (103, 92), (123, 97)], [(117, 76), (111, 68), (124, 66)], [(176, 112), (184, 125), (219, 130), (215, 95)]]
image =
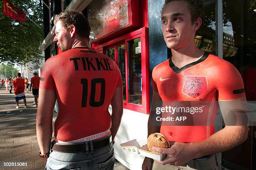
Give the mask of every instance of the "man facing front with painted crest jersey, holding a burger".
[[(154, 67), (152, 72), (153, 101), (148, 118), (148, 135), (160, 132), (173, 145), (171, 148), (153, 148), (158, 153), (169, 155), (163, 161), (155, 160), (154, 170), (221, 169), (216, 153), (243, 143), (248, 135), (246, 123), (232, 126), (228, 124), (230, 120), (225, 119), (234, 110), (246, 110), (241, 75), (229, 62), (209, 55), (195, 45), (195, 32), (202, 24), (202, 9), (201, 0), (165, 0), (162, 8), (162, 32), (167, 47), (172, 50), (172, 57)], [(200, 103), (202, 106), (203, 101), (210, 103), (207, 108), (187, 114), (194, 126), (177, 119), (167, 123), (161, 120), (159, 126), (153, 122), (159, 108), (168, 108), (168, 103), (177, 102), (184, 105), (183, 108), (194, 110), (195, 107), (189, 105), (197, 102), (198, 106)], [(217, 133), (214, 132), (218, 110), (216, 101), (219, 101), (226, 124)], [(178, 104), (169, 106), (182, 108)], [(164, 109), (161, 114), (167, 118), (170, 111)], [(176, 111), (172, 116), (178, 114)], [(142, 169), (150, 170), (152, 161), (145, 158)]]

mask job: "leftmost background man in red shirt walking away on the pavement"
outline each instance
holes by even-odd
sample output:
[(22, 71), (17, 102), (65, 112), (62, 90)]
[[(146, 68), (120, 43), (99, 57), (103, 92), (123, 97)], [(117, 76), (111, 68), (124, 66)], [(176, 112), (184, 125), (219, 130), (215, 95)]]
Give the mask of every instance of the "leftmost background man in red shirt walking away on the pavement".
[(26, 101), (26, 96), (25, 96), (25, 82), (24, 79), (21, 78), (20, 72), (17, 73), (17, 78), (13, 80), (13, 85), (14, 85), (14, 93), (15, 93), (15, 100), (16, 100), (16, 108), (19, 108), (19, 100), (23, 99), (25, 108), (27, 106), (27, 101)]

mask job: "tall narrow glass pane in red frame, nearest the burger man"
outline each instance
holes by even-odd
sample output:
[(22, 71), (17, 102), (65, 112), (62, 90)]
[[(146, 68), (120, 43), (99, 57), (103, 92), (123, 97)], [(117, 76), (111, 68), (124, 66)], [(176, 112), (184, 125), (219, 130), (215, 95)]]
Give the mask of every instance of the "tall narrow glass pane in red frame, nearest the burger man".
[(127, 46), (129, 102), (141, 105), (141, 38), (128, 41)]

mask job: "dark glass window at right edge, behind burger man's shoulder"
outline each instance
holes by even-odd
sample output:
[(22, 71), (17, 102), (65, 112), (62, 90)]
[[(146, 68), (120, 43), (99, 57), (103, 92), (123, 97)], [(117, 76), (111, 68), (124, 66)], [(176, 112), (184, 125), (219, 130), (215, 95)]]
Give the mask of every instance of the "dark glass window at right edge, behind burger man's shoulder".
[(254, 0), (223, 0), (223, 35), (231, 41), (223, 59), (241, 72), (246, 99), (256, 101), (256, 5)]

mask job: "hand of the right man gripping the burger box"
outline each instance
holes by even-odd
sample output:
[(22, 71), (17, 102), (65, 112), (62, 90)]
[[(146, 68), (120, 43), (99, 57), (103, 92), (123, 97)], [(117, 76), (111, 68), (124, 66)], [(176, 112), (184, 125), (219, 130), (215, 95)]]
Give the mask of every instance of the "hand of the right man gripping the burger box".
[(187, 163), (189, 160), (196, 158), (196, 150), (195, 147), (193, 147), (193, 143), (175, 142), (171, 148), (153, 147), (153, 150), (158, 153), (167, 154), (169, 156), (163, 161), (155, 160), (157, 163), (160, 163), (161, 165), (172, 164), (179, 166), (184, 163)]

